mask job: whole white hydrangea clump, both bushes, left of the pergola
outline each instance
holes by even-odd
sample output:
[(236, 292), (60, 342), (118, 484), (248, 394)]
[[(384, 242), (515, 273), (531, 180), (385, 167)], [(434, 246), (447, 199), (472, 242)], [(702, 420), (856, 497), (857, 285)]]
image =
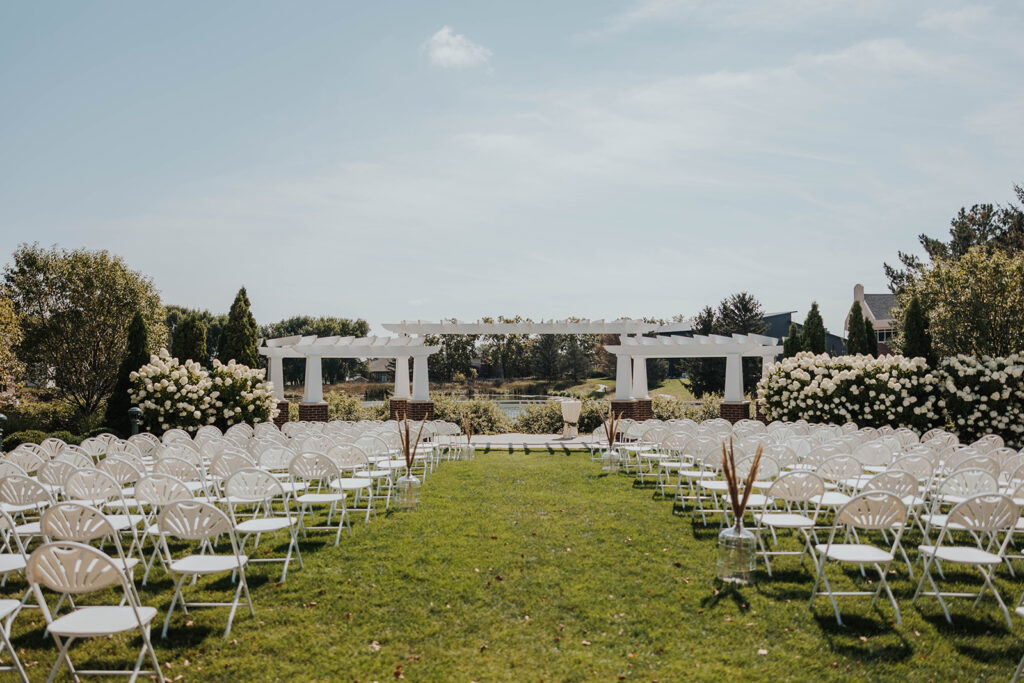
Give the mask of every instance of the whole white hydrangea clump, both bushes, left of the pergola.
[(273, 390), (264, 374), (233, 360), (214, 360), (211, 374), (160, 349), (129, 376), (131, 400), (142, 411), (142, 426), (158, 434), (172, 427), (195, 432), (203, 425), (255, 424), (273, 418)]

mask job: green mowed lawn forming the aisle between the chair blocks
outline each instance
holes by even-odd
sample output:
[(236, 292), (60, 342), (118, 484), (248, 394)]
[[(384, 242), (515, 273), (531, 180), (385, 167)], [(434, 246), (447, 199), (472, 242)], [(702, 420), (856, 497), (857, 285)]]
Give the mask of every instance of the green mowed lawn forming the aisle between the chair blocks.
[[(587, 455), (481, 454), (442, 464), (417, 511), (358, 522), (338, 548), (310, 531), (304, 568), (283, 585), (280, 566), (253, 567), (256, 616), (241, 610), (229, 639), (226, 609), (200, 609), (177, 612), (167, 640), (155, 629), (157, 648), (168, 679), (233, 681), (1007, 680), (1024, 651), (1024, 629), (1008, 629), (990, 598), (977, 609), (954, 601), (952, 627), (934, 601), (911, 606), (902, 565), (899, 627), (888, 603), (864, 598), (841, 599), (848, 628), (827, 599), (809, 609), (813, 577), (798, 558), (779, 558), (755, 586), (721, 588), (717, 532)], [(855, 570), (830, 575), (840, 590), (861, 584)], [(1020, 597), (1005, 569), (998, 586)], [(23, 587), (11, 579), (4, 591)], [(142, 601), (162, 621), (169, 580), (160, 574)], [(26, 610), (14, 625), (33, 680), (55, 657), (41, 623)], [(83, 643), (73, 656), (126, 666), (129, 645)]]

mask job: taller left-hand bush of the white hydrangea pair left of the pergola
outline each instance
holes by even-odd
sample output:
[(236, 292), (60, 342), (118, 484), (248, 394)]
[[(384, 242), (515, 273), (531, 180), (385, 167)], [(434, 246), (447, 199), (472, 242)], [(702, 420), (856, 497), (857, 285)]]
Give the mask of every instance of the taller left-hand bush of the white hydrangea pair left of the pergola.
[(213, 381), (195, 360), (179, 362), (167, 349), (133, 372), (131, 401), (142, 411), (142, 426), (161, 433), (172, 427), (196, 431), (213, 424)]

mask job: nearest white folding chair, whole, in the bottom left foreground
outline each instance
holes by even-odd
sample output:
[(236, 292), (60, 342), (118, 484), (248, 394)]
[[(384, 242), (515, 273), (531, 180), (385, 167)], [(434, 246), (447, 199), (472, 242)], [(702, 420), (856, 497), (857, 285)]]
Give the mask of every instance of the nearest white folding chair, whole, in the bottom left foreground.
[[(133, 681), (139, 674), (152, 674), (157, 680), (164, 680), (160, 661), (150, 640), (150, 627), (157, 616), (157, 610), (139, 604), (134, 588), (117, 560), (81, 543), (48, 543), (36, 549), (29, 557), (26, 577), (43, 612), (46, 631), (53, 637), (59, 650), (48, 681), (56, 677), (62, 666), (68, 667), (69, 673), (75, 680), (78, 680), (79, 675), (111, 674), (130, 674)], [(68, 595), (93, 593), (117, 587), (124, 593), (124, 601), (120, 605), (80, 607), (53, 618), (43, 596), (43, 587)], [(125, 632), (136, 632), (142, 640), (134, 669), (125, 672), (75, 669), (69, 650), (76, 640), (106, 638)], [(143, 672), (142, 663), (147, 654), (154, 669)]]

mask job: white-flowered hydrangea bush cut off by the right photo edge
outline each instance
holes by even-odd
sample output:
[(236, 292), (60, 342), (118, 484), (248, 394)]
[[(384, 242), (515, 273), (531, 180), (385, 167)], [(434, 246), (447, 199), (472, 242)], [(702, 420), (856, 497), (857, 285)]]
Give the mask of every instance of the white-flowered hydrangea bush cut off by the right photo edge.
[(1024, 355), (954, 355), (939, 374), (940, 404), (962, 442), (995, 433), (1014, 447), (1024, 443)]

